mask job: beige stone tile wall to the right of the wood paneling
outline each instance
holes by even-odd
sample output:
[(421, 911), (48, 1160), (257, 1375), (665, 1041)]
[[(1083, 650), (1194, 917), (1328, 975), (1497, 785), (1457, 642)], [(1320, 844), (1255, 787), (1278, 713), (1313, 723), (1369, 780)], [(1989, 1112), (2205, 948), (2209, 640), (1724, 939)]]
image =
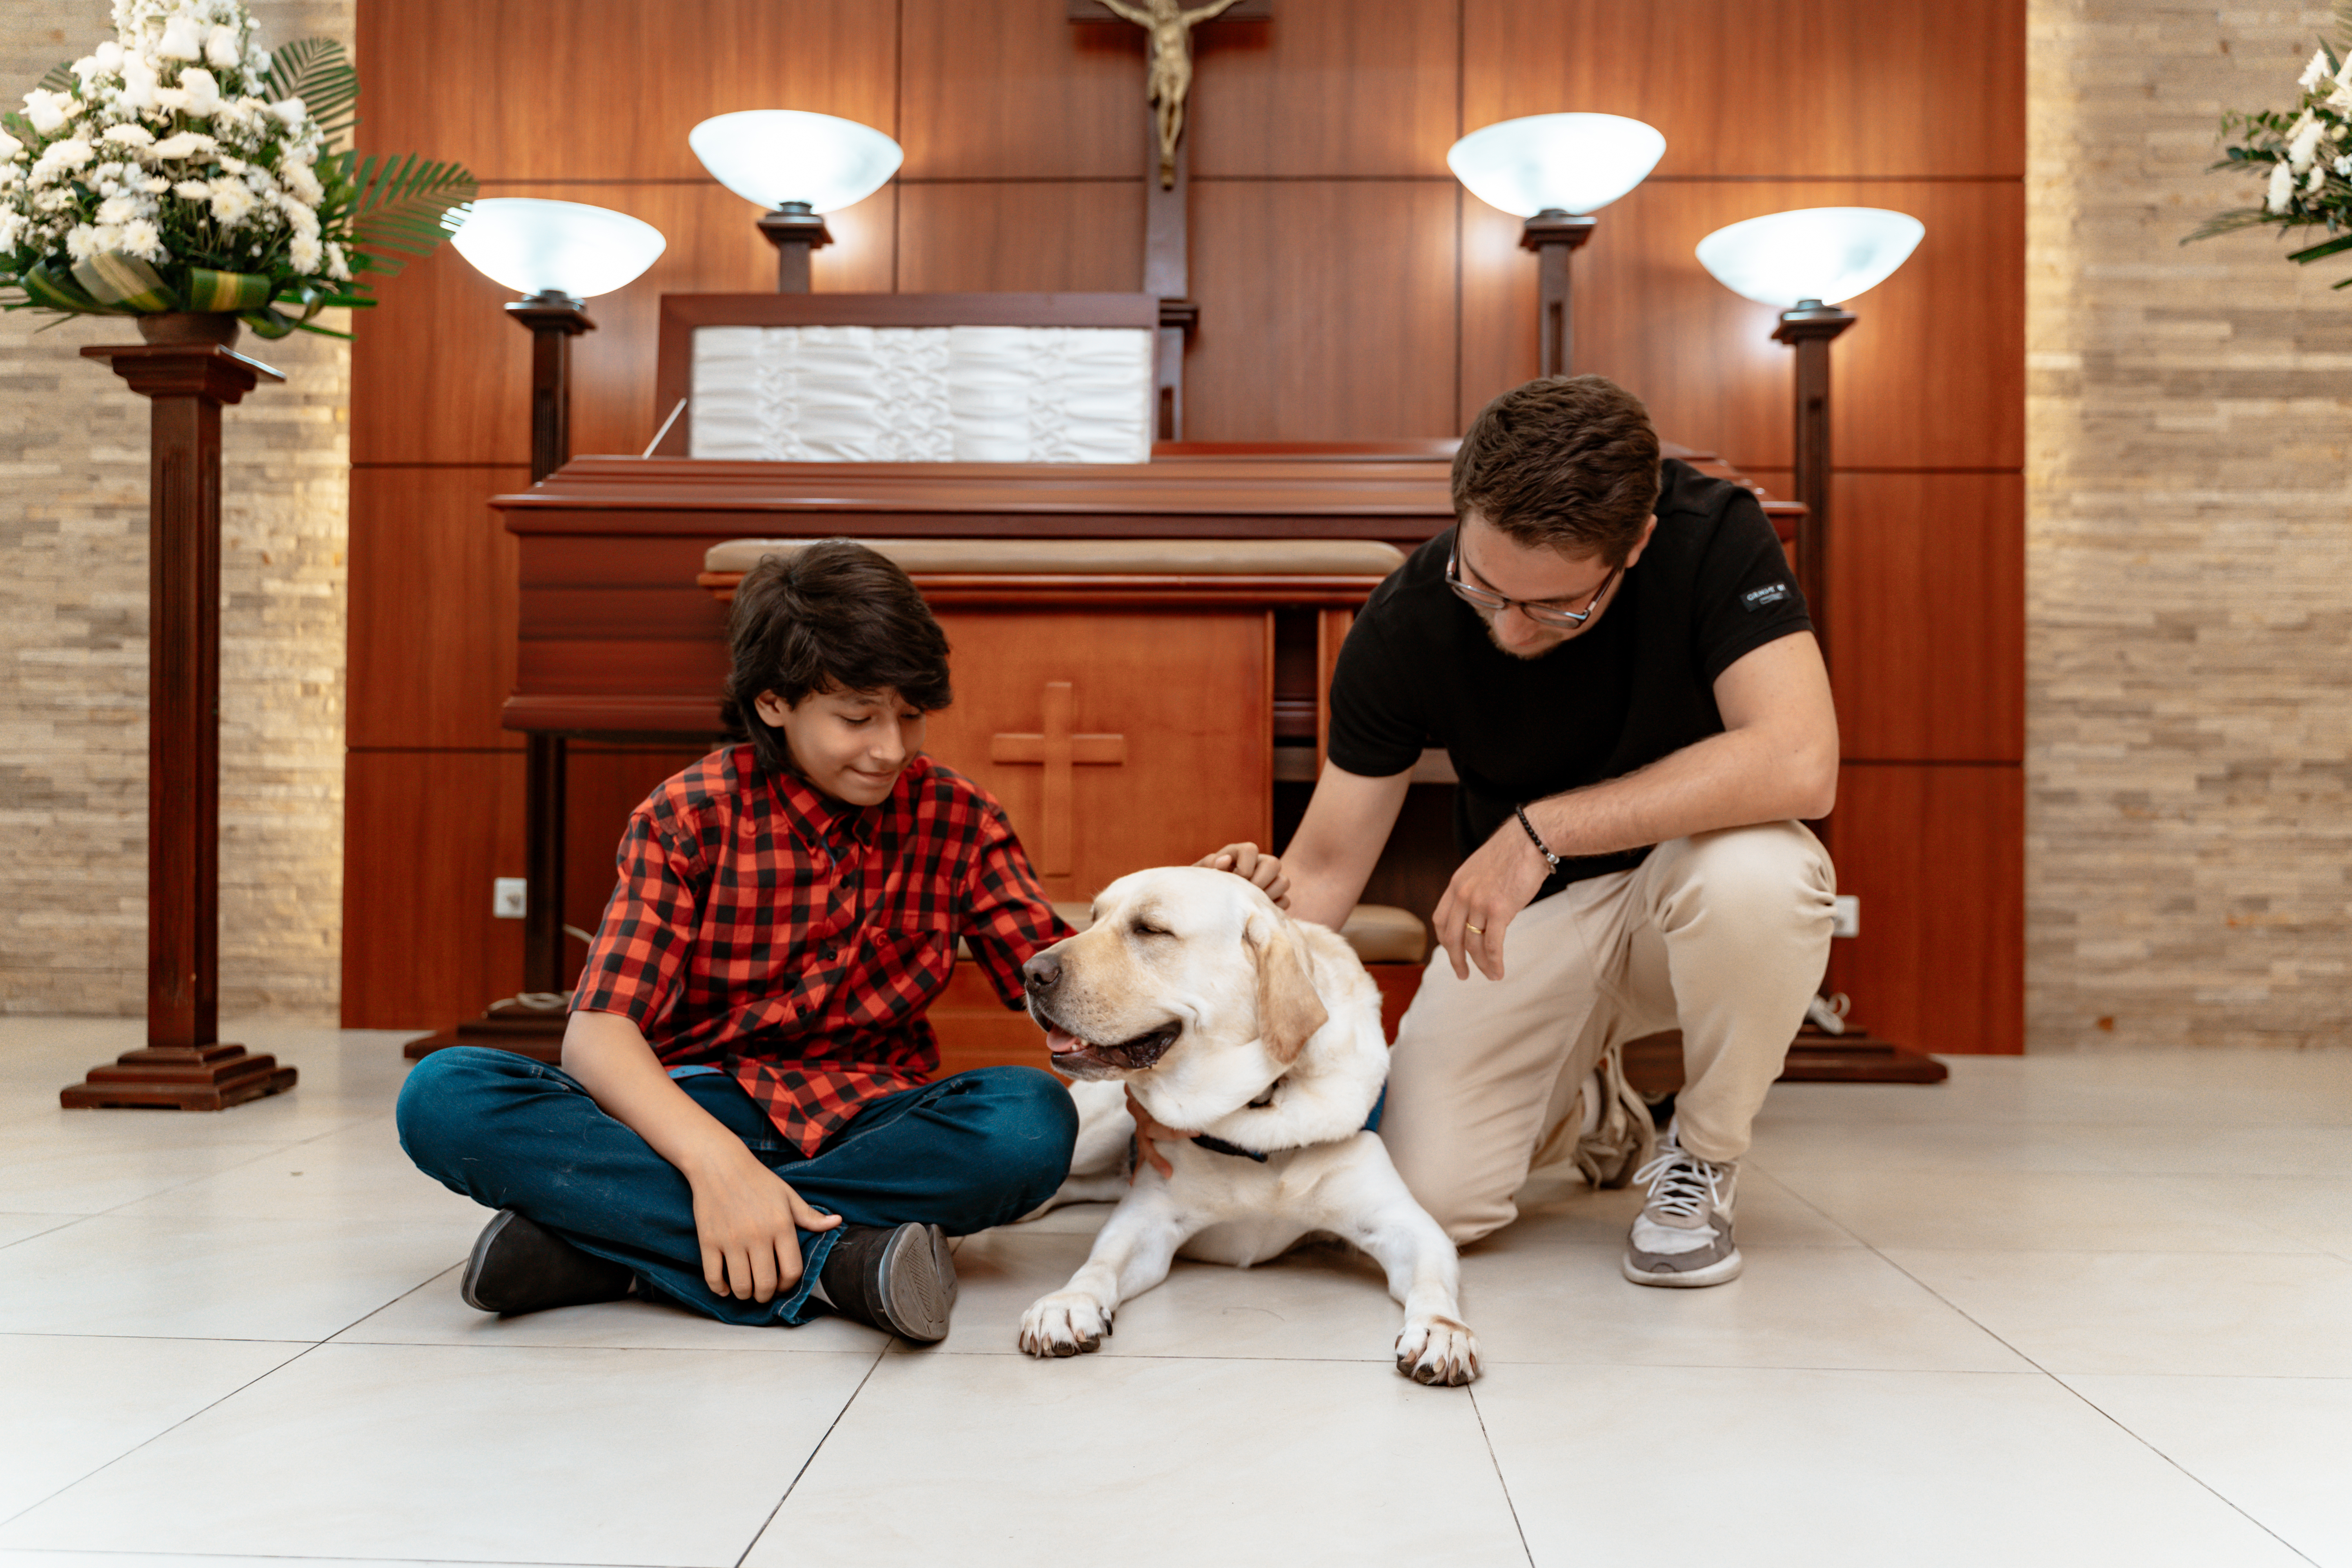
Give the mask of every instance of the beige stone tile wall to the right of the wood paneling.
[(2027, 1048), (2345, 1044), (2352, 261), (2178, 244), (2328, 12), (2030, 26)]

